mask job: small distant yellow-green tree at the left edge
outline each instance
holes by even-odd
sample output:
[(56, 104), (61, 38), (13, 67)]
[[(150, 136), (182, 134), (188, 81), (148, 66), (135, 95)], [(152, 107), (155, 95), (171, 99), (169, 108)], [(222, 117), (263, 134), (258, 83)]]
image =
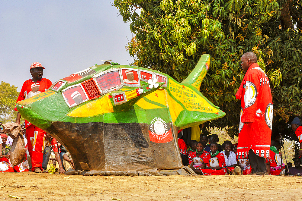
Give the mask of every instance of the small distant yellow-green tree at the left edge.
[(12, 112), (16, 105), (19, 92), (17, 87), (9, 83), (1, 81), (0, 84), (0, 115), (8, 112)]

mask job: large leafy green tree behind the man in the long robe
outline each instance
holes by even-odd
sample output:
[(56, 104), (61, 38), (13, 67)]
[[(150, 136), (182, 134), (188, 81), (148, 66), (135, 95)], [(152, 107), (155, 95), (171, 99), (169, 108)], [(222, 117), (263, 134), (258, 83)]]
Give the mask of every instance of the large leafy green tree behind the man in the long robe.
[[(211, 65), (201, 93), (226, 112), (203, 127), (238, 134), (235, 93), (244, 72), (241, 55), (253, 51), (273, 92), (274, 123), (302, 114), (301, 0), (115, 0), (136, 34), (127, 49), (133, 65), (185, 79), (202, 54)], [(140, 11), (140, 14), (138, 14)]]

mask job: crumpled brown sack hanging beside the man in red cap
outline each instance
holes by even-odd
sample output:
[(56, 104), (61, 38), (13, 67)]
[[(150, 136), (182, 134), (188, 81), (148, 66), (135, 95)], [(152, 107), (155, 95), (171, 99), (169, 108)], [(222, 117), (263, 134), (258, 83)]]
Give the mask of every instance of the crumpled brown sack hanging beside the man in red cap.
[(17, 123), (6, 123), (3, 124), (3, 131), (8, 134), (9, 137), (13, 138), (10, 150), (10, 161), (11, 165), (19, 165), (23, 162), (26, 150), (23, 138), (23, 133), (20, 124)]

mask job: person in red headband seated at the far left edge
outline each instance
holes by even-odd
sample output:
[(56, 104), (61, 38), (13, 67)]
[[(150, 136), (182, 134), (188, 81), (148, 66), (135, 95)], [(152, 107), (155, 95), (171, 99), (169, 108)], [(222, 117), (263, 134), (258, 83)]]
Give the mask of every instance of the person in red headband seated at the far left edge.
[(13, 172), (14, 169), (11, 167), (11, 164), (8, 162), (9, 160), (9, 152), (11, 146), (6, 144), (7, 135), (2, 133), (1, 134), (1, 141), (2, 148), (1, 148), (1, 158), (0, 158), (0, 171), (3, 172)]

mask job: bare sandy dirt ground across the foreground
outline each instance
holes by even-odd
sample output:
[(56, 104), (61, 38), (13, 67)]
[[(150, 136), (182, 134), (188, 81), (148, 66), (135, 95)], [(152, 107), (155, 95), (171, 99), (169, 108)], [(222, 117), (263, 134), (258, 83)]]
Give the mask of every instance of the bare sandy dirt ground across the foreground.
[(300, 200), (302, 177), (0, 173), (0, 200)]

